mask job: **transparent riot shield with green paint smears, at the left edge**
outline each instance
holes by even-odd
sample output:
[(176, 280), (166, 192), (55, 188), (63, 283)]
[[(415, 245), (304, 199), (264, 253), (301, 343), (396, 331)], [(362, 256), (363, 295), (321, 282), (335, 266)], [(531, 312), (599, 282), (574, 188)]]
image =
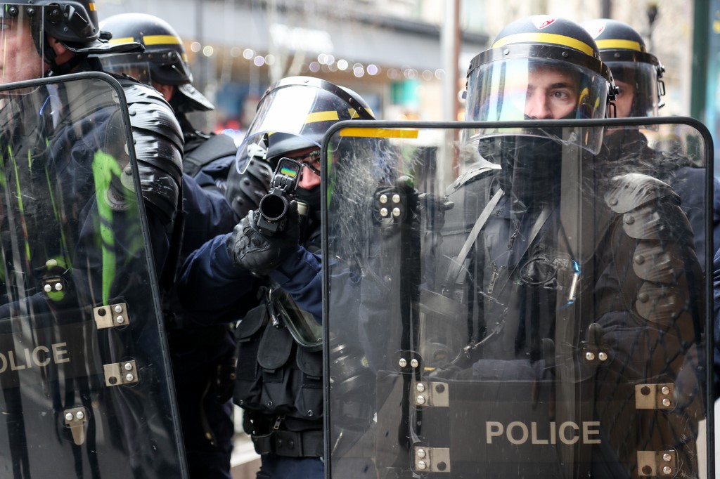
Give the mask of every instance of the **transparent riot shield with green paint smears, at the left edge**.
[(182, 478), (125, 96), (0, 88), (0, 476)]

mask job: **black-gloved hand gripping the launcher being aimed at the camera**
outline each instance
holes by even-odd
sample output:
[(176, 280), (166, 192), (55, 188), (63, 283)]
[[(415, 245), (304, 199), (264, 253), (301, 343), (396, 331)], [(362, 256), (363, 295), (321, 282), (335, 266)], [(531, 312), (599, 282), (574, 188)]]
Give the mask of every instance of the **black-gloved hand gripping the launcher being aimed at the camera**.
[(228, 238), (228, 252), (238, 268), (257, 274), (267, 274), (277, 268), (296, 250), (300, 238), (300, 216), (297, 201), (290, 201), (287, 209), (287, 223), (282, 232), (266, 236), (258, 231), (258, 210), (235, 225)]

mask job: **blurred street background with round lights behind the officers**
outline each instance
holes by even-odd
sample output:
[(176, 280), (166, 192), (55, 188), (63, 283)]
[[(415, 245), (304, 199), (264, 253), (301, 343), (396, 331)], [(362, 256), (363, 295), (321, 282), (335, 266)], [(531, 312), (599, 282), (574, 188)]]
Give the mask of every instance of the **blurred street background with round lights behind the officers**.
[[(97, 0), (100, 19), (153, 14), (183, 38), (194, 85), (216, 106), (197, 127), (242, 140), (260, 96), (284, 76), (354, 89), (378, 119), (462, 119), (470, 60), (509, 22), (531, 14), (613, 18), (665, 65), (662, 115), (694, 117), (720, 154), (720, 0)], [(717, 162), (720, 163), (720, 162)], [(716, 176), (720, 167), (715, 166)], [(716, 408), (717, 409), (717, 408)], [(720, 411), (718, 413), (720, 414)], [(235, 479), (258, 457), (239, 426)], [(716, 444), (716, 457), (720, 456)]]

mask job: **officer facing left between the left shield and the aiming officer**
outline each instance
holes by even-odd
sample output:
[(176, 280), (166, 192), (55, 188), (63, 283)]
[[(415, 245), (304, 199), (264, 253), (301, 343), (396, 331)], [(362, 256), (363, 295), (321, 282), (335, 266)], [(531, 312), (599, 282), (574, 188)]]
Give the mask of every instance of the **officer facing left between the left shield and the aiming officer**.
[[(237, 147), (230, 137), (201, 132), (189, 122), (188, 113), (215, 107), (192, 86), (187, 53), (175, 29), (163, 19), (139, 13), (114, 15), (101, 27), (112, 33), (111, 43), (132, 39), (145, 47), (140, 54), (103, 56), (103, 68), (125, 73), (163, 93), (183, 130), (183, 208), (177, 222), (181, 226), (174, 232), (174, 242), (180, 243), (176, 260), (180, 265), (205, 241), (231, 231), (257, 205), (267, 191), (271, 171), (265, 163), (253, 162), (246, 174), (233, 177), (230, 191), (246, 200), (234, 201), (238, 208), (233, 211), (225, 193)], [(170, 290), (164, 295), (163, 308), (191, 476), (229, 479), (235, 342), (226, 324), (184, 324), (173, 285), (163, 286)]]

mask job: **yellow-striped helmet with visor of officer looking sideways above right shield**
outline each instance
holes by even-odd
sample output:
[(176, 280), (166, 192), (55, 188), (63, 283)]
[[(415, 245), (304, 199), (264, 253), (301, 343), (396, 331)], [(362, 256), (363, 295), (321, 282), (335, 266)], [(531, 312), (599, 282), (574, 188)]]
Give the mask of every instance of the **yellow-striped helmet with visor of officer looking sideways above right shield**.
[[(549, 84), (559, 86), (557, 91), (552, 96), (537, 95), (538, 82), (549, 79)], [(604, 118), (614, 92), (610, 70), (587, 30), (568, 19), (536, 15), (508, 24), (489, 50), (472, 59), (465, 118), (486, 122)], [(482, 129), (475, 136), (508, 132)], [(548, 133), (520, 127), (513, 134)], [(572, 135), (572, 140), (597, 152), (602, 135), (602, 128), (593, 128)]]

